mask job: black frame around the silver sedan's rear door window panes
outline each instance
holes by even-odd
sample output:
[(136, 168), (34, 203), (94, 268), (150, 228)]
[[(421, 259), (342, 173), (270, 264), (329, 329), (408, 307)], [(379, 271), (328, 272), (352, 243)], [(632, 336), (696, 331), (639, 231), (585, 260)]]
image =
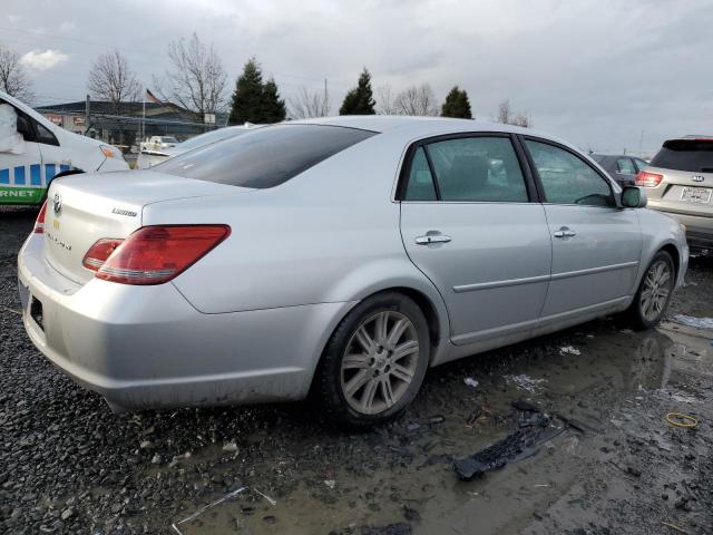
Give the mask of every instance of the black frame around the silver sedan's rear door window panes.
[[(427, 145), (440, 142), (447, 142), (450, 139), (463, 139), (471, 137), (501, 137), (510, 140), (510, 145), (512, 146), (512, 150), (517, 157), (518, 165), (520, 166), (520, 173), (522, 174), (522, 181), (525, 182), (525, 191), (527, 193), (527, 201), (442, 201), (440, 195), (440, 186), (438, 184), (438, 176), (436, 175), (436, 169), (433, 168), (433, 162), (431, 160), (431, 156), (429, 155)], [(436, 188), (436, 201), (408, 201), (406, 200), (406, 189), (409, 184), (409, 176), (411, 174), (411, 164), (413, 162), (413, 156), (419, 147), (423, 147), (423, 153), (426, 154), (426, 158), (428, 160), (429, 169), (431, 172), (431, 179), (433, 181), (433, 186)], [(399, 173), (399, 182), (395, 188), (395, 195), (393, 201), (398, 203), (450, 203), (450, 204), (529, 204), (537, 203), (539, 198), (537, 197), (537, 189), (535, 187), (535, 183), (533, 181), (533, 175), (527, 165), (527, 162), (524, 159), (524, 155), (518, 150), (518, 144), (516, 139), (516, 135), (509, 132), (458, 132), (453, 134), (440, 134), (437, 136), (429, 136), (421, 139), (418, 139), (408, 147), (406, 152), (406, 156), (403, 159), (403, 164), (401, 165), (401, 171)]]

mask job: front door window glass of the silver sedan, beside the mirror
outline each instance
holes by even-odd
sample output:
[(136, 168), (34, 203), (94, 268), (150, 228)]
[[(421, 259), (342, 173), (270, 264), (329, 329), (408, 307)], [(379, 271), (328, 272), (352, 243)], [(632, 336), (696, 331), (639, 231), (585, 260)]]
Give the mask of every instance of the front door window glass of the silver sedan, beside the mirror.
[(609, 184), (584, 159), (547, 143), (526, 139), (525, 144), (543, 185), (545, 202), (614, 206)]

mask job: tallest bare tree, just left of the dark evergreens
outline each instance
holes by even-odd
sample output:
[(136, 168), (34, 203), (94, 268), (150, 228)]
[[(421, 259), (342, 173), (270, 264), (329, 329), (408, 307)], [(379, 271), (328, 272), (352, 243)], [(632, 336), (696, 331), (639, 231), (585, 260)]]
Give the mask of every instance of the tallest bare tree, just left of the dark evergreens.
[(203, 117), (225, 108), (227, 75), (213, 43), (205, 45), (194, 32), (168, 45), (170, 68), (165, 80), (154, 78), (157, 93), (165, 100), (191, 109)]

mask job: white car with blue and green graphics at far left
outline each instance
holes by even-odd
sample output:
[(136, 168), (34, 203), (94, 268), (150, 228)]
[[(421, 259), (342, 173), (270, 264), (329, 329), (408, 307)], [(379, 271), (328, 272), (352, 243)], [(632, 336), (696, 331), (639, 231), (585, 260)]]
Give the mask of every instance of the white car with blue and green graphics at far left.
[(40, 204), (60, 174), (128, 168), (118, 148), (68, 132), (0, 93), (0, 205)]

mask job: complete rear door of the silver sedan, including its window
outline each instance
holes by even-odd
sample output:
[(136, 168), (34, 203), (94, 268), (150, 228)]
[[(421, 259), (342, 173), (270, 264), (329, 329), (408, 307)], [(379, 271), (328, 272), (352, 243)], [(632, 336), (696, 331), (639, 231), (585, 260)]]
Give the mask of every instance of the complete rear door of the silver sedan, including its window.
[(545, 302), (551, 244), (522, 154), (509, 135), (427, 139), (401, 176), (401, 234), (438, 288), (451, 340), (526, 329)]

